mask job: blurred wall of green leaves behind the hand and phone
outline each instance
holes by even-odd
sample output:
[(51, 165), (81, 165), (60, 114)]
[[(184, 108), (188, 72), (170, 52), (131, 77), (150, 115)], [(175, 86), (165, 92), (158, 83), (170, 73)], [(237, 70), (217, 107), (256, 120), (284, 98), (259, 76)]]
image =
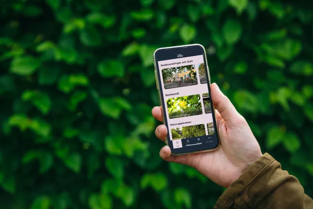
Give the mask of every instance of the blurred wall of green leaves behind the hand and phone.
[(200, 43), (262, 151), (313, 196), (307, 0), (0, 1), (0, 205), (207, 209), (223, 188), (163, 162), (153, 52)]

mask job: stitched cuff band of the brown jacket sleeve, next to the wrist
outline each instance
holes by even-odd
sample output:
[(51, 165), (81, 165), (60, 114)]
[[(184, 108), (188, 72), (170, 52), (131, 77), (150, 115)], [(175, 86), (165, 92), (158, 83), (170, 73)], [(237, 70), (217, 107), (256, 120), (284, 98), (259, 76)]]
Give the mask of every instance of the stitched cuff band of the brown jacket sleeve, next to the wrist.
[[(277, 161), (270, 154), (265, 153), (262, 155), (223, 192), (216, 203), (215, 209), (229, 208), (234, 204), (238, 205), (241, 209), (250, 208), (249, 203), (255, 194), (251, 194), (252, 191), (249, 188), (251, 185), (253, 187), (257, 186), (258, 183), (256, 180), (258, 176), (270, 169), (270, 165), (274, 162)], [(253, 200), (255, 201), (255, 199)]]

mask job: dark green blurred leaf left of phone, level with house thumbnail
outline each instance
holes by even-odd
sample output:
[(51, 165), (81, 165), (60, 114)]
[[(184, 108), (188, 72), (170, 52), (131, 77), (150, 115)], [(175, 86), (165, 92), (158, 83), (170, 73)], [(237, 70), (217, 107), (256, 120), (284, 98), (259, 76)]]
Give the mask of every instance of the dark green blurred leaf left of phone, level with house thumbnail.
[(123, 63), (117, 60), (106, 60), (98, 64), (97, 70), (103, 77), (123, 77), (125, 70)]

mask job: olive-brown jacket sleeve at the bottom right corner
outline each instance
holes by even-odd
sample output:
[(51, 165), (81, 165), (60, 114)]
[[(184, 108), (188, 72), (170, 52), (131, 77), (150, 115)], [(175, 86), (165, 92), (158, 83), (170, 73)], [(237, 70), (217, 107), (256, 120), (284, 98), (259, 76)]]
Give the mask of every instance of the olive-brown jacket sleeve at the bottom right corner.
[(265, 153), (224, 191), (215, 209), (313, 209), (313, 200)]

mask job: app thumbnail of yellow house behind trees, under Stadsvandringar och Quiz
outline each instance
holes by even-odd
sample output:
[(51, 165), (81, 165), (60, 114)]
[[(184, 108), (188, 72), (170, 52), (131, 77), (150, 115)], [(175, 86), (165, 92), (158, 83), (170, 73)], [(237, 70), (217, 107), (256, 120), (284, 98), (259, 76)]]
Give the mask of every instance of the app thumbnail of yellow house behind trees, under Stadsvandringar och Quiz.
[(162, 70), (164, 89), (173, 89), (198, 84), (194, 65), (167, 68)]

